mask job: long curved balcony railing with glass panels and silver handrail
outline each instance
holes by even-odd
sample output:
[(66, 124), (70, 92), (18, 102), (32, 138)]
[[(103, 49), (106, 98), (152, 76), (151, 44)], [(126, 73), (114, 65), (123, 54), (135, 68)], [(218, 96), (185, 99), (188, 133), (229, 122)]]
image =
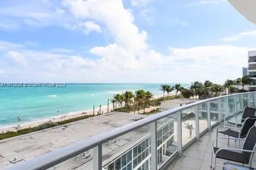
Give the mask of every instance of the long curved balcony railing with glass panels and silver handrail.
[(230, 114), (255, 107), (256, 92), (201, 100), (17, 163), (8, 169), (163, 169)]

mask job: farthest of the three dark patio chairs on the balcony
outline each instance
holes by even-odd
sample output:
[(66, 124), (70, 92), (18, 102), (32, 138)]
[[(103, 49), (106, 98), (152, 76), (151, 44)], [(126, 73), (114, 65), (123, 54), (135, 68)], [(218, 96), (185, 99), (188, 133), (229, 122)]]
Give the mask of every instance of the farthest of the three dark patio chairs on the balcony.
[[(239, 117), (239, 116), (242, 116), (242, 118), (237, 120), (237, 122), (228, 121), (228, 118), (230, 117)], [(224, 126), (236, 126), (241, 128), (243, 121), (245, 121), (247, 117), (253, 117), (253, 116), (256, 116), (256, 108), (245, 107), (245, 109), (243, 109), (243, 114), (232, 114), (232, 115), (226, 116), (224, 118)]]

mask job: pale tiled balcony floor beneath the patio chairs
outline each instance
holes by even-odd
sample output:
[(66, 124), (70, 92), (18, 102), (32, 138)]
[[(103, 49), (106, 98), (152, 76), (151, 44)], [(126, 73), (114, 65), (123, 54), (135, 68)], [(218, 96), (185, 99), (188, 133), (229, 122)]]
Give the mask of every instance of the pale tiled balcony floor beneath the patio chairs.
[[(200, 141), (196, 141), (191, 146), (189, 146), (185, 151), (183, 151), (183, 156), (174, 160), (166, 169), (170, 170), (195, 170), (195, 169), (210, 169), (210, 159), (212, 155), (212, 141), (216, 138), (216, 128), (213, 131), (208, 131), (200, 138)], [(219, 137), (223, 137), (219, 133)], [(227, 136), (226, 136), (227, 137)], [(215, 145), (215, 144), (214, 144)], [(241, 143), (242, 147), (243, 143)], [(218, 147), (227, 147), (228, 141), (221, 139), (218, 141)], [(239, 143), (230, 140), (229, 147), (239, 148)], [(213, 159), (214, 162), (214, 159)], [(217, 159), (216, 164), (223, 164), (228, 162), (228, 160)], [(234, 163), (234, 162), (230, 162)], [(237, 163), (236, 163), (237, 164)], [(214, 163), (213, 163), (214, 165)], [(253, 158), (252, 166), (256, 168), (256, 154)], [(216, 168), (222, 169), (222, 168)]]

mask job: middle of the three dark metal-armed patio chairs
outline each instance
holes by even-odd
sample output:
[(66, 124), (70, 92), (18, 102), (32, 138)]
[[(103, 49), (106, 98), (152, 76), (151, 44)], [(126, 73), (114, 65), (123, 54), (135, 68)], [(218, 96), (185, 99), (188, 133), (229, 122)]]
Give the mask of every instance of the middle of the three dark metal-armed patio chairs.
[[(228, 137), (245, 138), (248, 131), (250, 130), (251, 126), (253, 126), (255, 124), (255, 121), (256, 121), (255, 116), (247, 117), (245, 119), (245, 121), (243, 121), (241, 129), (233, 128), (233, 127), (229, 127), (229, 126), (219, 126), (217, 128), (216, 138), (218, 138), (218, 133), (228, 135)], [(228, 128), (228, 129), (225, 129), (224, 131), (218, 131), (220, 128)], [(232, 129), (234, 129), (234, 130), (232, 130)], [(240, 131), (237, 131), (237, 130), (240, 130)], [(229, 145), (229, 140), (228, 140), (228, 145)], [(218, 147), (218, 139), (216, 139), (216, 147)], [(240, 147), (240, 143), (239, 143), (239, 147)]]

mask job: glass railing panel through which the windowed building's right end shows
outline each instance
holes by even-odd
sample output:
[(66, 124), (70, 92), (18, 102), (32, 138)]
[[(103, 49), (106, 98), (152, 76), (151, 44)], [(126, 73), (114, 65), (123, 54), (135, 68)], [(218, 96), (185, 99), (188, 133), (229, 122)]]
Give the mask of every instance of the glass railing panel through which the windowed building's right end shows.
[[(162, 167), (177, 152), (177, 114), (156, 121), (158, 133), (158, 168)], [(143, 169), (143, 168), (142, 168)]]

